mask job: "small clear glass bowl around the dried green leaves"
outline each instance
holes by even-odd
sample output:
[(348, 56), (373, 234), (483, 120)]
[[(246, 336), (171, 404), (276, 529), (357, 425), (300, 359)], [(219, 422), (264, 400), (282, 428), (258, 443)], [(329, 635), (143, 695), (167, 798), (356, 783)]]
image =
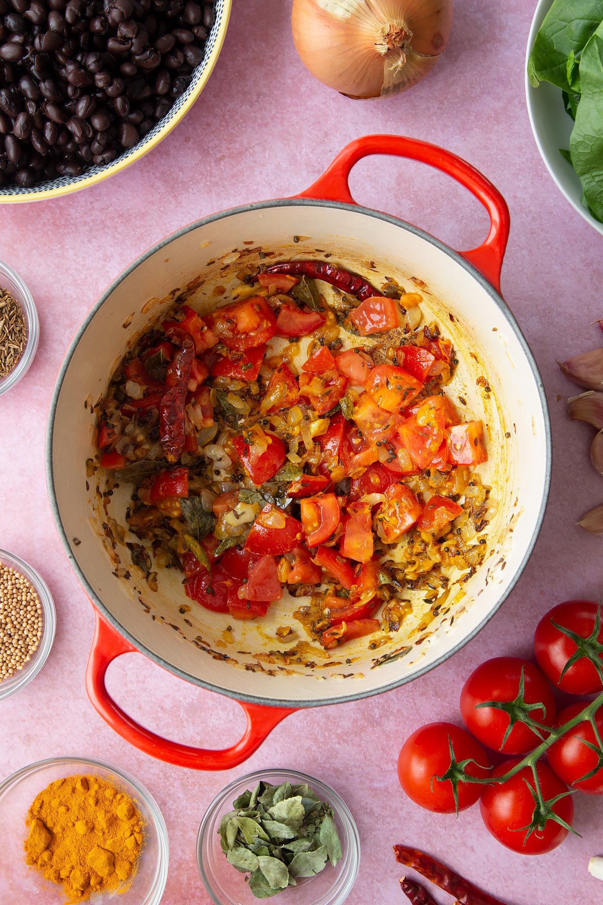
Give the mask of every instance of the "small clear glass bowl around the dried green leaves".
[[(325, 786), (314, 776), (297, 773), (294, 770), (258, 770), (241, 776), (230, 786), (216, 795), (203, 816), (197, 835), (197, 863), (207, 891), (216, 905), (255, 905), (258, 899), (245, 882), (246, 874), (238, 872), (226, 860), (221, 850), (218, 828), (221, 818), (232, 810), (232, 802), (246, 789), (250, 791), (259, 780), (279, 786), (287, 779), (291, 785), (307, 783), (333, 808), (344, 857), (333, 867), (298, 881), (297, 886), (288, 886), (278, 893), (278, 902), (283, 905), (341, 905), (352, 891), (360, 864), (360, 836), (348, 806), (329, 786)], [(247, 875), (249, 876), (249, 874)]]

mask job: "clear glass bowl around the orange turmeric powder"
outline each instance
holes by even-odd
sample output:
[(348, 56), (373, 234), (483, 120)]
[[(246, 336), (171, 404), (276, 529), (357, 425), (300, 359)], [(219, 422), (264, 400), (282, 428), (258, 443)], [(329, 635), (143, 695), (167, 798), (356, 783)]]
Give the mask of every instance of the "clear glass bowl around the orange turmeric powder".
[(159, 905), (167, 881), (168, 843), (164, 818), (144, 786), (134, 776), (102, 760), (88, 757), (52, 757), (17, 770), (0, 784), (0, 901), (62, 905), (62, 887), (45, 880), (35, 868), (25, 864), (25, 815), (43, 788), (65, 776), (93, 774), (106, 779), (130, 795), (146, 821), (146, 842), (140, 855), (137, 875), (125, 892), (95, 892), (90, 905)]

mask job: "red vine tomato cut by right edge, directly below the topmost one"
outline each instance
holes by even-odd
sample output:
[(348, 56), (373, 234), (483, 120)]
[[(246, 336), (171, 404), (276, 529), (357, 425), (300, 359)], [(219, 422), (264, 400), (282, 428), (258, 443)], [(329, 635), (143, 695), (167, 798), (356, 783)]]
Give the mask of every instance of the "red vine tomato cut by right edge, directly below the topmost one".
[[(577, 717), (584, 710), (584, 704), (570, 704), (557, 717), (556, 726), (563, 726), (570, 719)], [(599, 707), (595, 713), (595, 724), (598, 734), (603, 738), (603, 707)], [(585, 744), (585, 742), (587, 744)], [(603, 765), (596, 751), (589, 745), (598, 745), (595, 732), (589, 723), (585, 721), (569, 729), (565, 735), (553, 742), (546, 753), (549, 765), (557, 776), (572, 788), (586, 792), (587, 795), (603, 795)], [(594, 776), (589, 779), (579, 780), (591, 770), (599, 767)]]

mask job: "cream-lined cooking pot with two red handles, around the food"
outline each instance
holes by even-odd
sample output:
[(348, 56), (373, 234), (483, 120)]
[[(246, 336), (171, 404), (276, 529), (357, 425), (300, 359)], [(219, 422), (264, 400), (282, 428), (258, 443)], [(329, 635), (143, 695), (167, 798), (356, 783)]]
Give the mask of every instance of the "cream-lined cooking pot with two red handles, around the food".
[[(412, 157), (456, 178), (490, 214), (485, 243), (471, 252), (453, 252), (409, 224), (355, 205), (348, 175), (370, 154)], [(388, 691), (437, 666), (473, 637), (510, 593), (542, 522), (551, 441), (541, 378), (498, 294), (508, 225), (502, 196), (465, 161), (410, 138), (370, 136), (344, 148), (303, 195), (215, 214), (169, 236), (124, 271), (90, 311), (61, 367), (52, 399), (48, 482), (62, 542), (96, 608), (87, 672), (90, 699), (132, 744), (186, 767), (234, 767), (291, 710)], [(293, 243), (294, 235), (300, 237), (298, 243)], [(260, 249), (274, 252), (273, 262), (330, 253), (331, 262), (377, 285), (385, 274), (401, 285), (419, 281), (426, 319), (438, 320), (459, 353), (450, 392), (462, 395), (470, 416), (481, 417), (486, 425), (489, 462), (480, 471), (498, 508), (488, 529), (485, 562), (466, 584), (454, 587), (435, 618), (417, 607), (400, 632), (376, 650), (363, 638), (326, 656), (304, 642), (300, 626), (297, 644), (278, 641), (275, 628), (295, 624), (291, 614), (299, 601), (288, 597), (271, 607), (266, 620), (235, 621), (232, 642), (224, 634), (227, 617), (195, 605), (191, 612), (179, 613), (180, 606), (190, 604), (181, 576), (160, 570), (159, 589), (153, 593), (141, 573), (129, 582), (113, 574), (106, 549), (111, 544), (100, 528), (99, 476), (86, 474), (86, 461), (95, 455), (91, 404), (105, 394), (128, 342), (161, 319), (174, 298), (184, 291), (202, 313), (211, 309), (216, 284), (227, 290), (236, 285), (241, 262), (259, 262)], [(487, 376), (490, 394), (476, 385), (479, 376)], [(128, 492), (120, 509), (116, 491), (109, 516), (123, 518)], [(122, 566), (130, 566), (123, 545), (118, 544), (116, 553)], [(185, 680), (239, 700), (248, 718), (243, 738), (224, 750), (192, 748), (137, 725), (111, 700), (104, 684), (108, 663), (135, 650)]]

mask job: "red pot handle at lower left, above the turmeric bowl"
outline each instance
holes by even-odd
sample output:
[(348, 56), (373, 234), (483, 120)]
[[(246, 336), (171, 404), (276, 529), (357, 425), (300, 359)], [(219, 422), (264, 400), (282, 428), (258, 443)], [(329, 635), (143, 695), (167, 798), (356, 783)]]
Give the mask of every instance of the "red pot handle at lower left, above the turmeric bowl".
[(242, 737), (231, 748), (193, 748), (181, 745), (169, 738), (162, 738), (140, 726), (128, 716), (109, 696), (105, 686), (105, 674), (110, 662), (122, 653), (137, 653), (137, 648), (120, 635), (112, 625), (94, 611), (96, 624), (86, 667), (86, 691), (94, 708), (108, 722), (111, 729), (125, 738), (130, 745), (140, 748), (151, 757), (165, 760), (176, 767), (193, 770), (228, 770), (237, 767), (256, 751), (281, 719), (296, 708), (265, 707), (237, 701), (245, 711), (247, 726)]

